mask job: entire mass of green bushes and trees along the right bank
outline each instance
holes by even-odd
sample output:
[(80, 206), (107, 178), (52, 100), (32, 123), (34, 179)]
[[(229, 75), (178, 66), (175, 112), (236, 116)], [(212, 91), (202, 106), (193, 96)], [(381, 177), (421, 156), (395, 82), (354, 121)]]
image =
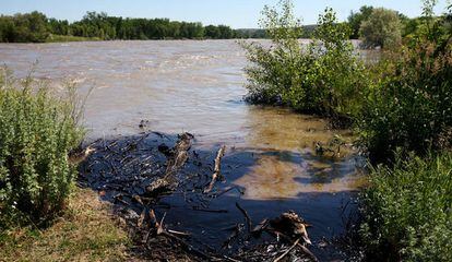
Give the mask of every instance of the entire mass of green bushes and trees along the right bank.
[[(436, 16), (436, 3), (424, 1), (423, 16), (408, 23), (370, 7), (338, 23), (326, 9), (313, 40), (300, 47), (302, 27), (284, 0), (281, 10), (263, 11), (272, 47), (242, 43), (248, 102), (356, 130), (373, 166), (360, 195), (367, 260), (452, 260), (452, 7)], [(381, 47), (381, 58), (360, 59), (350, 36)]]

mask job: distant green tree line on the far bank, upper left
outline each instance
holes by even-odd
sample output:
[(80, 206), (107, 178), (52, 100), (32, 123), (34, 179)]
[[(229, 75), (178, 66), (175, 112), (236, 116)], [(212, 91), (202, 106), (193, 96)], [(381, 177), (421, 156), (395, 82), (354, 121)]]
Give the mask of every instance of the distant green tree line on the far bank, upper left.
[(227, 25), (207, 25), (169, 19), (129, 19), (105, 12), (87, 12), (82, 20), (47, 17), (40, 12), (0, 16), (0, 41), (44, 43), (53, 36), (74, 36), (100, 40), (129, 39), (229, 39), (253, 37)]

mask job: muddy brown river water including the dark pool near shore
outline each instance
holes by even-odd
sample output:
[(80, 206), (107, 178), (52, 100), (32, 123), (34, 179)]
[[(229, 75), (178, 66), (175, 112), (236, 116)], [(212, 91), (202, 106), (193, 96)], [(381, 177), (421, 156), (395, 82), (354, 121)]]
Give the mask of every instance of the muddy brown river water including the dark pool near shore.
[(224, 184), (239, 186), (245, 194), (230, 191), (217, 202), (227, 214), (175, 209), (169, 222), (215, 245), (215, 229), (241, 217), (238, 200), (254, 223), (294, 210), (312, 224), (313, 249), (322, 260), (344, 259), (323, 248), (323, 240), (344, 233), (353, 198), (365, 181), (364, 159), (350, 148), (342, 157), (318, 156), (313, 145), (334, 135), (349, 143), (350, 132), (330, 130), (316, 117), (243, 103), (247, 60), (235, 40), (0, 45), (0, 62), (19, 78), (35, 61), (36, 78), (71, 79), (81, 93), (94, 88), (84, 119), (91, 140), (136, 134), (146, 120), (145, 129), (193, 133), (199, 150), (227, 145), (225, 165), (236, 168), (224, 174)]

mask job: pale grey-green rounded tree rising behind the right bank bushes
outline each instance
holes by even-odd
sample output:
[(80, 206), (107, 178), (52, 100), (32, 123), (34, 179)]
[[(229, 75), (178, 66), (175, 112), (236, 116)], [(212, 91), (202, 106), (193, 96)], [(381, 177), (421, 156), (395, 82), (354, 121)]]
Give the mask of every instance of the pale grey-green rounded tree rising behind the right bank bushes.
[(362, 22), (359, 34), (365, 47), (396, 47), (402, 41), (400, 16), (393, 10), (374, 9), (369, 19)]

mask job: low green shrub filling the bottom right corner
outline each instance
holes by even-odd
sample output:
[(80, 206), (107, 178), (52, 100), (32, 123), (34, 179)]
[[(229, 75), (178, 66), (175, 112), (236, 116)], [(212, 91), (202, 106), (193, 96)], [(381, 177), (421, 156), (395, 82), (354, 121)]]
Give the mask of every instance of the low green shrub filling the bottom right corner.
[(361, 236), (377, 261), (452, 261), (452, 153), (370, 171)]

